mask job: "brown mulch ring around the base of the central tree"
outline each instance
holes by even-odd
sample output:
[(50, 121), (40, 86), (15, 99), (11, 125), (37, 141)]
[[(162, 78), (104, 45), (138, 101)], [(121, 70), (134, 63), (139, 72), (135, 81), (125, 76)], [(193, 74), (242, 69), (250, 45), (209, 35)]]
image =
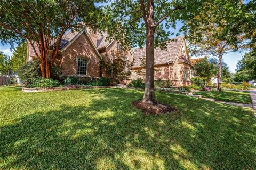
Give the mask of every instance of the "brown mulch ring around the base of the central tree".
[(135, 108), (142, 110), (143, 113), (150, 115), (170, 114), (170, 112), (177, 111), (177, 109), (172, 107), (170, 104), (162, 102), (156, 102), (155, 104), (147, 104), (142, 103), (141, 100), (139, 100), (133, 102), (132, 105)]

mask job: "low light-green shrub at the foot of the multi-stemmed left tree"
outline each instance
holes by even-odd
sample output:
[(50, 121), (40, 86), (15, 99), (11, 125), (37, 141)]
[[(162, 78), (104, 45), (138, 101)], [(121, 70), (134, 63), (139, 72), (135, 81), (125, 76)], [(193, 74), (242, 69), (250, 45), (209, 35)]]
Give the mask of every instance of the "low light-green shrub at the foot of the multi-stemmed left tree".
[(60, 82), (51, 78), (34, 78), (31, 80), (31, 84), (28, 88), (47, 88), (47, 87), (59, 87)]

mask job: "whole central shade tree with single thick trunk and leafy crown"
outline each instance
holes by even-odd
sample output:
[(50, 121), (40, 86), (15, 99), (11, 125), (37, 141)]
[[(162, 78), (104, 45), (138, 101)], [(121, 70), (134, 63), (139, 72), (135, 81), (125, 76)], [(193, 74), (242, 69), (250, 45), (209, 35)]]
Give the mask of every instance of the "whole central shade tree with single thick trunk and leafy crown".
[[(199, 25), (209, 25), (213, 22), (209, 18), (198, 16), (212, 11), (213, 7), (227, 10), (234, 6), (237, 7), (237, 3), (228, 0), (111, 1), (110, 5), (106, 7), (108, 15), (104, 24), (109, 37), (115, 38), (127, 46), (130, 43), (133, 47), (146, 45), (146, 85), (142, 103), (155, 103), (154, 48), (161, 47), (164, 49), (166, 47), (166, 43), (170, 41), (169, 36), (174, 34), (170, 28), (175, 29), (177, 21), (180, 21), (183, 26), (179, 31), (185, 33), (197, 31)], [(234, 14), (232, 10), (229, 9), (228, 11)], [(217, 10), (218, 12), (221, 11)], [(219, 14), (216, 20), (220, 20), (221, 17)]]

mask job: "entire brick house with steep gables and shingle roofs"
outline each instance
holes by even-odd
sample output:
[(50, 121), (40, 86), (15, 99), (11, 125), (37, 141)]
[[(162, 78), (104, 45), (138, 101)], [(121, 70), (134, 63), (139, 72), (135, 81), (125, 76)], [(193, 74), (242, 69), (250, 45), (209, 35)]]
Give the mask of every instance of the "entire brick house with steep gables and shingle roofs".
[[(115, 40), (107, 41), (107, 36), (107, 33), (95, 34), (90, 30), (69, 31), (63, 36), (59, 54), (55, 60), (57, 66), (61, 68), (63, 76), (101, 77), (100, 59), (104, 54), (117, 51), (120, 48)], [(38, 48), (36, 50), (39, 51)], [(134, 61), (131, 79), (145, 78), (145, 74), (143, 74), (145, 69), (142, 66), (145, 54), (145, 48), (128, 50), (127, 58)], [(34, 58), (34, 50), (28, 44), (27, 61)], [(171, 80), (177, 86), (189, 85), (190, 66), (190, 58), (183, 37), (177, 37), (175, 41), (170, 42), (167, 45), (167, 51), (159, 48), (155, 50), (155, 80), (159, 78)]]

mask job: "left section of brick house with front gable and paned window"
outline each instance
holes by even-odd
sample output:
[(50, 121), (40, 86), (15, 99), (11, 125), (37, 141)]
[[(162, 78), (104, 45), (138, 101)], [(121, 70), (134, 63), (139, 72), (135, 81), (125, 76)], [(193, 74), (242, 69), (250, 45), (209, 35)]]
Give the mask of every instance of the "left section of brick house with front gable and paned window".
[[(117, 51), (119, 44), (115, 41), (106, 41), (107, 34), (94, 34), (89, 30), (80, 32), (69, 31), (63, 36), (59, 54), (55, 63), (62, 70), (65, 77), (76, 76), (81, 78), (99, 78), (100, 59), (104, 54)], [(38, 48), (36, 50), (39, 53)], [(131, 49), (127, 53), (129, 59), (134, 55)], [(28, 44), (27, 61), (36, 58), (35, 52)]]

